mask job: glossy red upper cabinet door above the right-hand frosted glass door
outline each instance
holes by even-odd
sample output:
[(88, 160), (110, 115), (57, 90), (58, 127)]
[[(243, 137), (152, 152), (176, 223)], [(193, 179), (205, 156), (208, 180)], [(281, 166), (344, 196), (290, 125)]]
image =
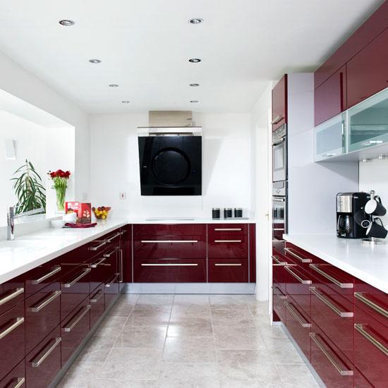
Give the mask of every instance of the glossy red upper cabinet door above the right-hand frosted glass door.
[(347, 63), (348, 107), (388, 86), (388, 30)]

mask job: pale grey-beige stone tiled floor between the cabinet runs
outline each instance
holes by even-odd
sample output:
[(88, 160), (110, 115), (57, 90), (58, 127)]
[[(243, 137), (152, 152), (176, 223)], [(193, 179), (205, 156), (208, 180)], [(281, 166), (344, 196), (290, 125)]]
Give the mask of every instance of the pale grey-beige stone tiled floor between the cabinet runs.
[(253, 296), (123, 295), (60, 387), (318, 387)]

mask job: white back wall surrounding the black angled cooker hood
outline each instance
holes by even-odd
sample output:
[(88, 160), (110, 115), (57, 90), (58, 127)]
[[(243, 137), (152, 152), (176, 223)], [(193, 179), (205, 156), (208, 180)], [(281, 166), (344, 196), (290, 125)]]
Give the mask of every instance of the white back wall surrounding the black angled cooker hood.
[[(250, 115), (194, 114), (202, 126), (202, 196), (141, 196), (137, 127), (148, 114), (92, 115), (91, 192), (95, 205), (140, 217), (210, 217), (212, 207), (252, 208)], [(127, 194), (126, 200), (119, 193)]]

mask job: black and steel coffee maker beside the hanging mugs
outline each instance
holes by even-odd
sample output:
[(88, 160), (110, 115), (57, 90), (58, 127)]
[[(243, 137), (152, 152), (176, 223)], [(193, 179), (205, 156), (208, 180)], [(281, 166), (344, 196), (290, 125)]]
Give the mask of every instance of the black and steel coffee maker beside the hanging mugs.
[(369, 193), (337, 194), (337, 236), (341, 238), (365, 238), (366, 229), (362, 224), (369, 220), (365, 204), (370, 200)]

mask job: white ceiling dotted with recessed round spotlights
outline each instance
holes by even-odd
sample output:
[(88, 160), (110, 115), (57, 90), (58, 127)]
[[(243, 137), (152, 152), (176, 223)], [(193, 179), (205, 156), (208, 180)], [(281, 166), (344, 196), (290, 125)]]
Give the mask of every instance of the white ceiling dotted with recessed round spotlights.
[(315, 70), (382, 2), (0, 1), (0, 51), (90, 113), (247, 112), (268, 80)]

